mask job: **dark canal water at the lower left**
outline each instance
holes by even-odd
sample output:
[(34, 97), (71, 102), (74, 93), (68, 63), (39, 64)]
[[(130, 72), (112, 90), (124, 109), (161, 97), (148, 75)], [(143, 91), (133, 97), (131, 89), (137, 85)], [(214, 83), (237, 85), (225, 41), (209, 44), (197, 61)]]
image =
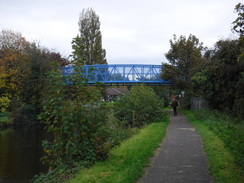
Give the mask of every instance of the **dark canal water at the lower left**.
[(40, 162), (42, 140), (50, 139), (43, 125), (8, 128), (0, 131), (0, 183), (29, 182), (46, 172)]

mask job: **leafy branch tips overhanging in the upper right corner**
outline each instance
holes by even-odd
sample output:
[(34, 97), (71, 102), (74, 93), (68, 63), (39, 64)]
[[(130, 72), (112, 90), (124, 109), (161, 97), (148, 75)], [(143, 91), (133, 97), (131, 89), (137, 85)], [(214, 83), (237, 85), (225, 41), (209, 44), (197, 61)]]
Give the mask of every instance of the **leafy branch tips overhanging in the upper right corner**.
[(235, 7), (235, 12), (238, 13), (238, 17), (232, 22), (234, 32), (244, 35), (244, 4), (238, 3)]

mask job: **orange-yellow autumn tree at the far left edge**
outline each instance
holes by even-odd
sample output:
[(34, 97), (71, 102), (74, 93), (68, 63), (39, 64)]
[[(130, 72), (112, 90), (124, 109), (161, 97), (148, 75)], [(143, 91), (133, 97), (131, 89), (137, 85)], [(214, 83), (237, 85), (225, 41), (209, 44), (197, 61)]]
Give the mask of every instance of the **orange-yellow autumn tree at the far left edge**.
[(29, 42), (20, 33), (3, 30), (0, 34), (0, 95), (20, 99), (23, 82), (29, 74), (25, 53)]

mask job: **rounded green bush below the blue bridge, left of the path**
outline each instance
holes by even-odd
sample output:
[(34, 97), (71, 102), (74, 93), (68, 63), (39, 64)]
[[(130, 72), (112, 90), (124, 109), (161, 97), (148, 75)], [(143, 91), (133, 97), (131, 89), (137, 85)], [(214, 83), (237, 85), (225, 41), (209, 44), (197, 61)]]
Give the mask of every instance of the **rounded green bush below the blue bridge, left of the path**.
[(162, 114), (164, 102), (152, 88), (133, 86), (129, 94), (116, 103), (116, 117), (129, 126), (141, 127)]

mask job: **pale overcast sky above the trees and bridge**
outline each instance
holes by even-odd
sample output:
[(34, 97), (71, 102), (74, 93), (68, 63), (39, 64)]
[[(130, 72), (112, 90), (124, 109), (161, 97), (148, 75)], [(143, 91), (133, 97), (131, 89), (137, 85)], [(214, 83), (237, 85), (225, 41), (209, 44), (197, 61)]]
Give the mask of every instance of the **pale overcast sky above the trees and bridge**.
[(162, 64), (169, 40), (195, 35), (204, 46), (233, 37), (240, 0), (0, 0), (0, 30), (68, 56), (83, 9), (100, 18), (109, 64)]

